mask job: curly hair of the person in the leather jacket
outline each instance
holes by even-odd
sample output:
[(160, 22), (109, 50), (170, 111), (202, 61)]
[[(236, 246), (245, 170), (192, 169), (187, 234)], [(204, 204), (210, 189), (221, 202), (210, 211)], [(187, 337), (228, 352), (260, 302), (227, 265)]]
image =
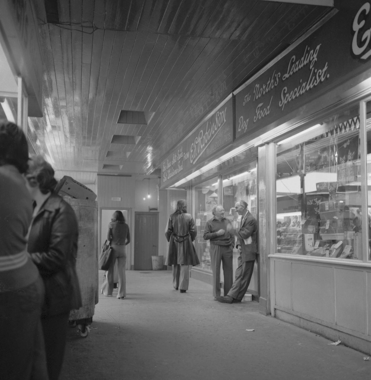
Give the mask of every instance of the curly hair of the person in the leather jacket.
[(36, 181), (43, 194), (54, 191), (57, 185), (57, 180), (54, 178), (54, 169), (42, 156), (32, 156), (30, 158), (26, 178), (33, 187), (35, 185), (32, 183)]

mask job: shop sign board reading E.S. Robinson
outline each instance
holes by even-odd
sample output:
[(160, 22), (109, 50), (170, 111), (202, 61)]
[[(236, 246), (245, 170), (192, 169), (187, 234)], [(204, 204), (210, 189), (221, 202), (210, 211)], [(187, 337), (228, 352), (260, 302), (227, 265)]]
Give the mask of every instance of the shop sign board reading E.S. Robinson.
[(196, 165), (233, 141), (232, 98), (202, 121), (163, 161), (162, 185), (186, 176)]

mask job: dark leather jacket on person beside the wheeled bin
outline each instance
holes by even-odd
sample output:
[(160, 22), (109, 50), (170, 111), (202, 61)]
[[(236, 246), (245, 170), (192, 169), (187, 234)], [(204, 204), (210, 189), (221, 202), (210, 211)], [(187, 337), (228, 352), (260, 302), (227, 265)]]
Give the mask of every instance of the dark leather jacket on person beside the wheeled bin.
[(45, 285), (43, 316), (81, 307), (76, 274), (78, 226), (72, 207), (52, 193), (33, 218), (28, 252)]

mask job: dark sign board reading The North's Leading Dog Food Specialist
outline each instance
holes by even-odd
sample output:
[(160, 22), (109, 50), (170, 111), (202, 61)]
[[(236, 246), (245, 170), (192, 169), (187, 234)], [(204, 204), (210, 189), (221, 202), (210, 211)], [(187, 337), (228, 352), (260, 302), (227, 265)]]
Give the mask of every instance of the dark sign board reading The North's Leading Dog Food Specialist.
[(371, 67), (370, 2), (339, 11), (235, 95), (236, 139), (305, 106)]

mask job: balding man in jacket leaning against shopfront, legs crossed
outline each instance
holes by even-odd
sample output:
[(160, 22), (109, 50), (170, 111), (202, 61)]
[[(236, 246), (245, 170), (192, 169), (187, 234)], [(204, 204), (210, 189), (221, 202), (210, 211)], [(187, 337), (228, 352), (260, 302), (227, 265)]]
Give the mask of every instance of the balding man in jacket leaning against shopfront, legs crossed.
[(241, 302), (253, 275), (254, 262), (257, 254), (257, 223), (256, 219), (247, 209), (245, 201), (238, 201), (235, 209), (242, 215), (239, 230), (234, 230), (232, 225), (227, 226), (230, 233), (237, 236), (236, 248), (240, 252), (238, 256), (238, 267), (235, 273), (235, 280), (228, 294), (223, 297), (216, 297), (219, 302), (231, 304)]

